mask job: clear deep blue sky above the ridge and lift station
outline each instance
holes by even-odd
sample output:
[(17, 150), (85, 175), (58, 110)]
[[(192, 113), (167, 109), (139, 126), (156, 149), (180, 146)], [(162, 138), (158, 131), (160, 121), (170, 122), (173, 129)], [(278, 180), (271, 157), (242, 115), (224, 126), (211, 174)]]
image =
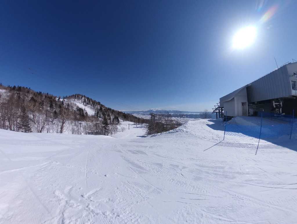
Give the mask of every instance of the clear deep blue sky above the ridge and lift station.
[[(274, 56), (297, 59), (296, 11), (284, 0), (2, 1), (0, 82), (119, 110), (210, 109), (274, 70)], [(231, 50), (250, 24), (255, 44)]]

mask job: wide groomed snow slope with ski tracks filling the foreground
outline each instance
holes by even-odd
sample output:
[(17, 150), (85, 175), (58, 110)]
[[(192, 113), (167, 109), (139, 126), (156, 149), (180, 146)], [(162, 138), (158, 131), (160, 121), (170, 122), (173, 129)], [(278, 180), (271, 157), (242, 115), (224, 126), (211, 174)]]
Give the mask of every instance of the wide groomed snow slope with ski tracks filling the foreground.
[(223, 129), (0, 130), (0, 223), (296, 223), (297, 141), (261, 140), (255, 155), (257, 139), (226, 136), (203, 151)]

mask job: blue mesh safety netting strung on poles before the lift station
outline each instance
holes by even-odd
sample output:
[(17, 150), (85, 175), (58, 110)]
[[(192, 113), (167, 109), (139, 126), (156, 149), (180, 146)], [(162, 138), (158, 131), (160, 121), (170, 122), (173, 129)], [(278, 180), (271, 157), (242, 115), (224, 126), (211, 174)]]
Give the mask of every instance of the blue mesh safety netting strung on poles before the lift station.
[(270, 113), (262, 114), (262, 116), (266, 118), (266, 122), (263, 122), (264, 124), (269, 120), (269, 124), (273, 125), (239, 125), (228, 124), (227, 122), (225, 125), (225, 135), (254, 138), (279, 138), (282, 136), (290, 137), (291, 132), (297, 133), (297, 119), (294, 119), (293, 116), (275, 116)]

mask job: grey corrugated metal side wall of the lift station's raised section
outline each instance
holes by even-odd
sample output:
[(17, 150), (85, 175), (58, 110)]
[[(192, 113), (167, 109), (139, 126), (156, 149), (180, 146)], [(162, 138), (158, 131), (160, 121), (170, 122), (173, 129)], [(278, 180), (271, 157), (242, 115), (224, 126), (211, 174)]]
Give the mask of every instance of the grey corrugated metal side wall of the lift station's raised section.
[(290, 95), (292, 95), (292, 87), (286, 65), (253, 81), (247, 86), (249, 103)]

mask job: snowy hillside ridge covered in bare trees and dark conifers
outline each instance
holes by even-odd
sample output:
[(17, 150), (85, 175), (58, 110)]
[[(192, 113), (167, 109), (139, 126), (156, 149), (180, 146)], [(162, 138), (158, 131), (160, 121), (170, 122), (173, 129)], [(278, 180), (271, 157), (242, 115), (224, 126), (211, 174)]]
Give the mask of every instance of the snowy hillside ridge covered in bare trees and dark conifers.
[[(85, 108), (94, 111), (88, 114)], [(90, 111), (90, 110), (89, 110)], [(54, 96), (24, 86), (0, 84), (0, 128), (21, 132), (112, 135), (120, 120), (146, 119), (106, 107), (82, 94)]]

